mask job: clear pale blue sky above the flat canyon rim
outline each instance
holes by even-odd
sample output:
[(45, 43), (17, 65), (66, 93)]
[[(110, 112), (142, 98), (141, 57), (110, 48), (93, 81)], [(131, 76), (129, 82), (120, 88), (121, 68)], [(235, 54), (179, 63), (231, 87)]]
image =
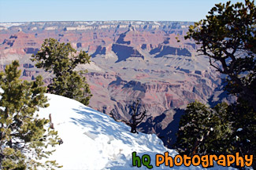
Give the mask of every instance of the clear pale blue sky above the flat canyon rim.
[(0, 22), (198, 21), (219, 2), (227, 0), (0, 0)]

